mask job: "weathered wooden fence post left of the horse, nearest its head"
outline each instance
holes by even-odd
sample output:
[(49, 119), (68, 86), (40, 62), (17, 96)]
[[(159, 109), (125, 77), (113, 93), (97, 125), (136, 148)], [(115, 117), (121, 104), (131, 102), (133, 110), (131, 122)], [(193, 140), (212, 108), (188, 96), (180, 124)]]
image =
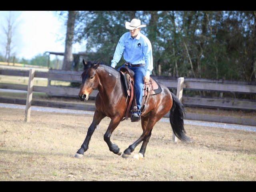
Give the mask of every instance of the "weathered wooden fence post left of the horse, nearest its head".
[(29, 70), (25, 122), (30, 121), (30, 110), (31, 110), (31, 102), (32, 102), (32, 94), (33, 94), (34, 76), (35, 76), (35, 69), (32, 68)]

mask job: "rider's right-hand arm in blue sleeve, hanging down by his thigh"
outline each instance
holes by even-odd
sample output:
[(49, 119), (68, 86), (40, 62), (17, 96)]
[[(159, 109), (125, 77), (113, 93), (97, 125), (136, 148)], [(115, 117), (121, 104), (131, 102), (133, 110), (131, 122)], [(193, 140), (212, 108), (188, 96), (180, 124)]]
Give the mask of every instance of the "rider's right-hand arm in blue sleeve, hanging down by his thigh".
[(145, 41), (145, 44), (143, 46), (143, 54), (146, 62), (145, 64), (146, 76), (148, 76), (149, 78), (153, 70), (152, 46), (149, 40)]

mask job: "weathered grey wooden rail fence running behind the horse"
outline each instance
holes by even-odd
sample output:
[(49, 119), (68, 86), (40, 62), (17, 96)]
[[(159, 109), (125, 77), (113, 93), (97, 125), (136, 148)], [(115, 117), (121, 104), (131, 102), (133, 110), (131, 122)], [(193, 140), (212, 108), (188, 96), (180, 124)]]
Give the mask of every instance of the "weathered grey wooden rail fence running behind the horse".
[[(30, 70), (31, 71), (31, 70)], [(23, 76), (28, 77), (29, 74), (33, 74), (28, 70), (10, 70), (10, 69), (0, 69), (0, 75), (6, 76)], [(48, 80), (61, 80), (69, 82), (81, 82), (81, 72), (76, 71), (62, 71), (62, 70), (49, 70), (48, 72), (36, 71), (34, 72), (34, 78), (47, 78)], [(32, 77), (30, 78), (32, 79)], [(155, 79), (167, 86), (168, 88), (177, 88), (177, 80), (168, 80), (168, 78), (155, 76)], [(31, 86), (31, 84), (30, 84)], [(29, 86), (29, 87), (30, 87)], [(14, 89), (14, 90), (28, 90), (28, 86), (20, 84), (4, 84), (0, 83), (0, 88), (3, 89)], [(253, 100), (231, 100), (231, 99), (220, 99), (220, 98), (193, 98), (193, 97), (182, 97), (182, 88), (190, 90), (211, 90), (211, 91), (222, 91), (222, 92), (240, 92), (240, 93), (250, 93), (256, 94), (256, 84), (248, 82), (230, 82), (221, 80), (202, 80), (193, 78), (184, 78), (183, 85), (180, 91), (177, 91), (177, 96), (182, 103), (186, 106), (216, 106), (218, 108), (230, 108), (230, 109), (246, 109), (246, 110), (256, 110), (256, 102)], [(48, 94), (59, 94), (65, 96), (77, 96), (79, 88), (71, 88), (64, 86), (33, 86), (31, 90), (33, 92), (43, 92)], [(94, 90), (90, 95), (90, 98), (95, 98), (98, 91)], [(31, 94), (32, 96), (32, 94)], [(28, 97), (29, 98), (29, 97)], [(11, 99), (0, 97), (0, 102), (5, 103), (19, 103), (26, 104), (26, 100)], [(64, 104), (64, 103), (51, 103), (51, 102), (36, 102), (33, 100), (28, 101), (32, 105), (38, 106), (54, 106), (58, 108), (72, 108), (79, 110), (95, 110), (94, 105), (88, 105), (85, 103), (81, 104)], [(169, 113), (165, 115), (169, 117)], [(188, 120), (202, 120), (210, 122), (223, 122), (232, 124), (243, 124), (256, 126), (256, 120), (252, 118), (235, 118), (228, 116), (216, 116), (208, 114), (195, 114), (186, 113), (185, 119)]]

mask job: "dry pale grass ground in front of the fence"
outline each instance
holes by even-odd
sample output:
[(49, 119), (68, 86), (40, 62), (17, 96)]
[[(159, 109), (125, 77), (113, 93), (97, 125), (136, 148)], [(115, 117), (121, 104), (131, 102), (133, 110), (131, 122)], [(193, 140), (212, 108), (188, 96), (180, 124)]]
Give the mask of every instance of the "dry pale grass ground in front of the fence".
[[(168, 122), (158, 122), (145, 158), (124, 159), (103, 140), (104, 118), (81, 159), (80, 148), (92, 115), (31, 112), (0, 108), (0, 180), (2, 181), (244, 181), (256, 180), (256, 132), (185, 125), (194, 143), (171, 142)], [(140, 122), (126, 120), (111, 141), (128, 148), (142, 134)]]

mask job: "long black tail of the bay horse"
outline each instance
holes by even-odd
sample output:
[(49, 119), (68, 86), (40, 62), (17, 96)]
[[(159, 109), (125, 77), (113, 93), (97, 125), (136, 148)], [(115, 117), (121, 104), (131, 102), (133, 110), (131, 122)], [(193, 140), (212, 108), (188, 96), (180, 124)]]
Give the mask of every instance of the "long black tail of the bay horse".
[(183, 116), (185, 114), (184, 106), (172, 92), (171, 94), (173, 101), (172, 108), (170, 110), (170, 123), (172, 130), (176, 137), (178, 137), (181, 141), (190, 142), (190, 138), (185, 135), (186, 131), (184, 129), (183, 122)]

